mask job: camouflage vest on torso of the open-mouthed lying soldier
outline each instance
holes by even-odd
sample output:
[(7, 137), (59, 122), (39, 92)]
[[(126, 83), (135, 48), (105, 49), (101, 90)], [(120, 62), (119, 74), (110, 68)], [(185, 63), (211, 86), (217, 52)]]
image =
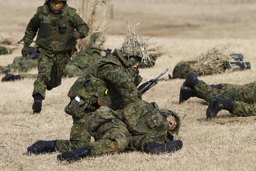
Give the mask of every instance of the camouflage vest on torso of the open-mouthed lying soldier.
[(148, 103), (143, 100), (131, 103), (124, 108), (123, 119), (129, 130), (155, 135), (158, 141), (164, 141), (166, 138), (169, 123), (161, 115), (156, 103)]

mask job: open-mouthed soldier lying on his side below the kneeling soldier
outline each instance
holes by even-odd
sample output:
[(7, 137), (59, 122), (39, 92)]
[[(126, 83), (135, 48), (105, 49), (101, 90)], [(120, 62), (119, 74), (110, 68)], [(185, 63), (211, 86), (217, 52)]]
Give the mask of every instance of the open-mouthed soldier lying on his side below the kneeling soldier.
[[(159, 154), (180, 150), (183, 146), (181, 140), (173, 140), (172, 136), (180, 128), (180, 119), (176, 113), (160, 110), (156, 103), (142, 100), (117, 111), (101, 106), (86, 121), (85, 126), (95, 141), (58, 155), (59, 160), (78, 160), (124, 150)], [(58, 145), (58, 140), (40, 140), (28, 147), (29, 154), (55, 151), (65, 151)]]

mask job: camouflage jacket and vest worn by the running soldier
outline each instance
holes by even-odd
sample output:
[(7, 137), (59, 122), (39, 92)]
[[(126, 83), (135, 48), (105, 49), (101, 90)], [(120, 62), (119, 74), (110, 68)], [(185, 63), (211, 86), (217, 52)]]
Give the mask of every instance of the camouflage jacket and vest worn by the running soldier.
[(83, 19), (76, 14), (76, 10), (64, 5), (61, 14), (53, 14), (47, 4), (37, 8), (37, 13), (30, 20), (25, 35), (24, 45), (30, 45), (38, 31), (36, 45), (43, 52), (60, 52), (74, 49), (76, 40), (71, 33), (78, 31), (80, 38), (85, 38), (89, 27)]

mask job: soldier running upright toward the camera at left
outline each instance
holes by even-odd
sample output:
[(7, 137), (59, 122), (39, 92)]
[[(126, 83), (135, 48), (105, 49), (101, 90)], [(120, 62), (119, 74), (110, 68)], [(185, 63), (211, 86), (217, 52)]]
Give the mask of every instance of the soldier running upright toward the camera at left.
[(37, 34), (36, 46), (39, 51), (38, 77), (34, 83), (33, 112), (39, 113), (45, 91), (52, 90), (61, 84), (64, 69), (75, 49), (76, 39), (85, 38), (89, 27), (69, 7), (67, 0), (45, 0), (38, 7), (37, 13), (30, 20), (23, 37), (24, 57), (29, 54), (29, 45)]

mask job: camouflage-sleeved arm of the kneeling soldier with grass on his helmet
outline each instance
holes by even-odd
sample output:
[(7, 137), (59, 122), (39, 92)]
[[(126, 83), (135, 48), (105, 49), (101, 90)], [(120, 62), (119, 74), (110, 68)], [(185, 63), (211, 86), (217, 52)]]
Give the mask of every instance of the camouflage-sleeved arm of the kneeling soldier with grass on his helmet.
[(124, 103), (141, 99), (141, 93), (135, 86), (133, 79), (120, 67), (105, 65), (99, 68), (97, 76), (109, 81), (124, 97)]

